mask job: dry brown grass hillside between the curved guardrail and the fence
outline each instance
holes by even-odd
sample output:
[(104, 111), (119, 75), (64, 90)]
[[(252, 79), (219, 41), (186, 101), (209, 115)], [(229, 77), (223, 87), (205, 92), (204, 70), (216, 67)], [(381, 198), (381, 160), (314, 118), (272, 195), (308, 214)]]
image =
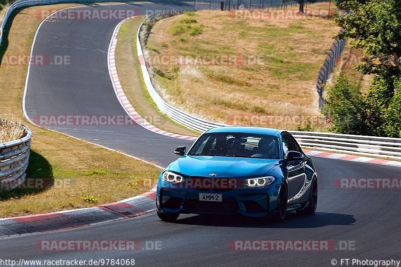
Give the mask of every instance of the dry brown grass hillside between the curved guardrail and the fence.
[[(319, 3), (313, 9), (326, 6), (328, 3)], [(332, 20), (245, 21), (233, 20), (227, 12), (201, 11), (195, 13), (197, 22), (191, 25), (203, 25), (202, 34), (177, 34), (177, 27), (186, 25), (180, 21), (188, 17), (156, 23), (148, 39), (150, 55), (256, 56), (260, 64), (155, 66), (159, 91), (167, 102), (226, 123), (233, 115), (319, 113), (316, 77), (332, 37), (339, 31)]]

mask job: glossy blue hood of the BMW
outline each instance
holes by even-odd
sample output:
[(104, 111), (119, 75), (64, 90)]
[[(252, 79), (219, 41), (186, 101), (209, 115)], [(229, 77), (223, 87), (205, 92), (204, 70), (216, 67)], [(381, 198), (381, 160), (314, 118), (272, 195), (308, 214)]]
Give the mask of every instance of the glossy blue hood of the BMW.
[(172, 162), (168, 170), (187, 176), (209, 177), (216, 173), (216, 177), (256, 177), (278, 164), (277, 159), (185, 155)]

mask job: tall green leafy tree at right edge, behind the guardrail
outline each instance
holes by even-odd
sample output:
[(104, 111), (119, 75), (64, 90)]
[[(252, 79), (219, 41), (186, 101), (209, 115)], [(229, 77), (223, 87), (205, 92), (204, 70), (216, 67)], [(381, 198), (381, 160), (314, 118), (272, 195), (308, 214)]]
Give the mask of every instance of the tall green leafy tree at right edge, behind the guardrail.
[(400, 137), (401, 1), (341, 2), (341, 7), (351, 12), (335, 17), (343, 29), (335, 38), (349, 39), (351, 47), (363, 49), (364, 59), (356, 68), (363, 74), (374, 74), (357, 116), (364, 119), (366, 134)]

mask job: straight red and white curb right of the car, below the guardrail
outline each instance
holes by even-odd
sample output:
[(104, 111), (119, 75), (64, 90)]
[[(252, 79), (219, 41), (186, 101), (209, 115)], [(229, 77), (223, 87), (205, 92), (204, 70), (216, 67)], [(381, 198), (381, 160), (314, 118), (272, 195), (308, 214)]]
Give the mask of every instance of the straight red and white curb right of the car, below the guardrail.
[(354, 162), (365, 162), (365, 163), (374, 163), (374, 164), (382, 164), (382, 165), (401, 167), (401, 161), (395, 161), (395, 160), (361, 157), (361, 156), (355, 156), (355, 155), (323, 152), (323, 151), (308, 150), (308, 149), (303, 149), (303, 151), (308, 156), (314, 156), (314, 157), (341, 159), (341, 160), (348, 160), (348, 161), (354, 161)]

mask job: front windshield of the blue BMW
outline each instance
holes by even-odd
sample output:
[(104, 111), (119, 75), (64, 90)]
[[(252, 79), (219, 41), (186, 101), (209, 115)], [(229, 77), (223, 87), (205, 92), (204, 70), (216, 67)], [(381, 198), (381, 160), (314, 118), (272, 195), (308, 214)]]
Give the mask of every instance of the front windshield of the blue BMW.
[(199, 137), (190, 156), (279, 159), (276, 136), (252, 133), (207, 133)]

